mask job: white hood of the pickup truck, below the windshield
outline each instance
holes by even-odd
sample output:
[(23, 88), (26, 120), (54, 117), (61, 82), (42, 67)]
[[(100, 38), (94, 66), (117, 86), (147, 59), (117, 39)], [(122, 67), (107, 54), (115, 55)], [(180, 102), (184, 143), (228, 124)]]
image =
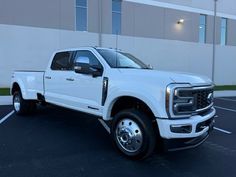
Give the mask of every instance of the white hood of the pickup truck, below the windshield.
[(192, 73), (184, 72), (168, 72), (148, 69), (119, 69), (121, 73), (125, 74), (126, 77), (132, 78), (145, 78), (145, 80), (156, 80), (169, 83), (189, 83), (192, 86), (197, 85), (210, 85), (212, 84), (211, 79), (206, 76), (201, 76)]

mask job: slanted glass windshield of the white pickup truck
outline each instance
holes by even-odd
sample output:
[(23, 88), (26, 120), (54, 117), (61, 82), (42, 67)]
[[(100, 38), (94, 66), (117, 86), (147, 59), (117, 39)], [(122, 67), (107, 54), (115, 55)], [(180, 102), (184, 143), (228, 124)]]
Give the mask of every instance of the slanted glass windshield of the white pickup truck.
[(148, 69), (147, 65), (129, 53), (109, 49), (97, 49), (112, 68)]

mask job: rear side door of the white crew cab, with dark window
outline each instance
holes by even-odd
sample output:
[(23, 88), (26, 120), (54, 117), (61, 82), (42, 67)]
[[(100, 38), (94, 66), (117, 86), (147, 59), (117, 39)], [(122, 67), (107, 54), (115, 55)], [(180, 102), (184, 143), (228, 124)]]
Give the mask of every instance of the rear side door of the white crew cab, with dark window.
[(71, 75), (74, 72), (73, 54), (72, 51), (66, 51), (54, 56), (44, 76), (46, 101), (62, 106), (71, 104), (68, 93), (73, 92), (73, 88), (68, 83), (72, 82)]

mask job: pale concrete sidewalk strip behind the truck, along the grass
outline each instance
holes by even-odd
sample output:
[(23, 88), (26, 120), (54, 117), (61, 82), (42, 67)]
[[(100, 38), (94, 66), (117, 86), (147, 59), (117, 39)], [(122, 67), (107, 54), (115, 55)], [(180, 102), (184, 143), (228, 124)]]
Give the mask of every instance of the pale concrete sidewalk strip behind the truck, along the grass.
[[(236, 91), (215, 91), (214, 96), (217, 97), (229, 97), (236, 96)], [(0, 96), (0, 105), (11, 105), (12, 96)]]

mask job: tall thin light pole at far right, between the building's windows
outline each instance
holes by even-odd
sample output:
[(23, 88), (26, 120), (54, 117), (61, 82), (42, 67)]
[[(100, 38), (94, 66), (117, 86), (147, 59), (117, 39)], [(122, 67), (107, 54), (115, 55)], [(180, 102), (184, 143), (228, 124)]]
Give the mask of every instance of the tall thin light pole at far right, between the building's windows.
[(216, 12), (217, 1), (214, 0), (214, 26), (213, 26), (213, 58), (212, 58), (212, 81), (215, 81), (215, 58), (216, 58)]

